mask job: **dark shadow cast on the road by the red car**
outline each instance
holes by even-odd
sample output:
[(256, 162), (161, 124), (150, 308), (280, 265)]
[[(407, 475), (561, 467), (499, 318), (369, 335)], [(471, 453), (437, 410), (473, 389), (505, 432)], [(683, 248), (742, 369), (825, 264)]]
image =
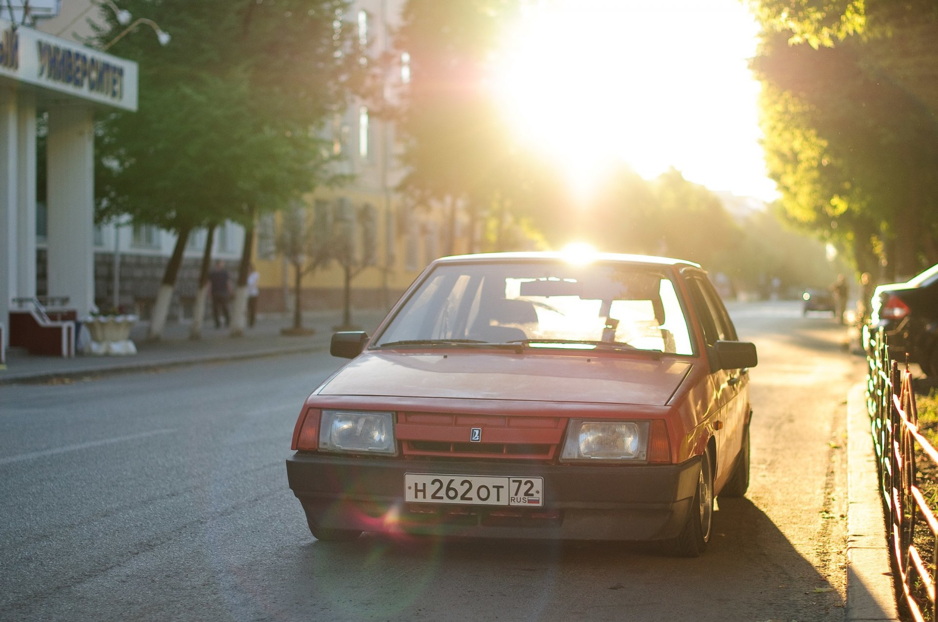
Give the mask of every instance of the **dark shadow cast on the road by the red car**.
[(799, 549), (816, 555), (746, 498), (720, 502), (709, 550), (693, 559), (653, 543), (366, 534), (304, 546), (279, 600), (305, 601), (317, 619), (842, 619), (842, 582)]

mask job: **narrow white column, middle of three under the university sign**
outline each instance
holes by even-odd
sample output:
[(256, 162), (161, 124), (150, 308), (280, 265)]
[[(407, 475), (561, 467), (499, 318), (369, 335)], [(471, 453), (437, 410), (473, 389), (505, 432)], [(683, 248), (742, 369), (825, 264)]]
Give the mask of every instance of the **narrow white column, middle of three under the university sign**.
[(17, 183), (16, 295), (36, 296), (36, 98), (21, 94), (19, 101), (19, 179)]

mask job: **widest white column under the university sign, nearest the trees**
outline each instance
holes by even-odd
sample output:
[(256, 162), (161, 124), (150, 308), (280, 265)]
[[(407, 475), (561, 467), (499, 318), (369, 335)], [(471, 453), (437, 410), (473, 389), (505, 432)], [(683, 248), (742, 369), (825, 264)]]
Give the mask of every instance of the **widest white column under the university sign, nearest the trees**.
[(87, 315), (95, 303), (94, 117), (87, 106), (49, 111), (49, 295), (68, 296), (68, 306)]

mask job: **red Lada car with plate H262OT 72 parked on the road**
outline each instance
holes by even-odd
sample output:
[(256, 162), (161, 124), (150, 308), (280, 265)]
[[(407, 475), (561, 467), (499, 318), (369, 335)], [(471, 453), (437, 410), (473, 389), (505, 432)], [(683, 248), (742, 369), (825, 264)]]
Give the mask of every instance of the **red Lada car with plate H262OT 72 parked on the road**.
[(307, 398), (287, 460), (319, 540), (662, 541), (700, 555), (749, 485), (756, 349), (701, 267), (438, 259)]

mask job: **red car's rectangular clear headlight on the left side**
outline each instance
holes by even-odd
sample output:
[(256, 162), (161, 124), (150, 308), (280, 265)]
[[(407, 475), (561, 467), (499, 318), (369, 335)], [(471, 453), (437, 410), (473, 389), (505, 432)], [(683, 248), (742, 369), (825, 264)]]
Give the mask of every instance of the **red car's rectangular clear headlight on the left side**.
[(394, 413), (324, 410), (319, 451), (397, 455)]

